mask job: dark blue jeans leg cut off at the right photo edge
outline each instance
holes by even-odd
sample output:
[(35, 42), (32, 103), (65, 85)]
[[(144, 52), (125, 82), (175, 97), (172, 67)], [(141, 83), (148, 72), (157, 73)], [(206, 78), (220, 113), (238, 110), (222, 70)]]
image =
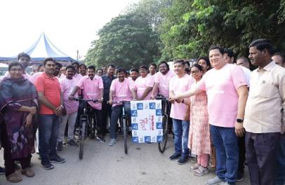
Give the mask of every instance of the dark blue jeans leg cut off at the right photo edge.
[(285, 184), (285, 137), (282, 136), (277, 146), (277, 168), (275, 185)]

